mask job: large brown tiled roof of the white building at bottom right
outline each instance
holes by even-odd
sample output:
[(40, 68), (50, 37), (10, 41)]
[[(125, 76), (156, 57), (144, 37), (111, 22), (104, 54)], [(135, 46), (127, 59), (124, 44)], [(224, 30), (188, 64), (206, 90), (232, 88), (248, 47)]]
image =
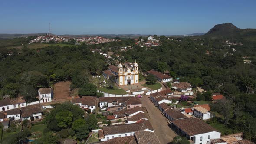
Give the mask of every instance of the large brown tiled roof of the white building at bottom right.
[[(217, 131), (215, 128), (197, 118), (184, 118), (171, 121), (174, 125), (186, 132), (189, 136)], [(217, 131), (218, 132), (218, 131)]]

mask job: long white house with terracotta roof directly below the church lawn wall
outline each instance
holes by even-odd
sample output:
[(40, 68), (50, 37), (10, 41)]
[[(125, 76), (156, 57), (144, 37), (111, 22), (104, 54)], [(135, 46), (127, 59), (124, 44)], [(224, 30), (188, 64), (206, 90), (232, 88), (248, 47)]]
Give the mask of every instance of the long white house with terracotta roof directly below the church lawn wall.
[(99, 98), (99, 107), (106, 108), (112, 106), (122, 106), (126, 109), (141, 107), (141, 101), (137, 97), (101, 97)]

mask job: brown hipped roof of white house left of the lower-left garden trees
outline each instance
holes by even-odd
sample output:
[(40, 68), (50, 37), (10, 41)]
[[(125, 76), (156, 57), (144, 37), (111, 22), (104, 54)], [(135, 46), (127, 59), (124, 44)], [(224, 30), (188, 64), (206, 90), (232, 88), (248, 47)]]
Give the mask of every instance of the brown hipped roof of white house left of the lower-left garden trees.
[(32, 114), (43, 112), (42, 106), (38, 105), (29, 105), (21, 108), (22, 118), (31, 117)]

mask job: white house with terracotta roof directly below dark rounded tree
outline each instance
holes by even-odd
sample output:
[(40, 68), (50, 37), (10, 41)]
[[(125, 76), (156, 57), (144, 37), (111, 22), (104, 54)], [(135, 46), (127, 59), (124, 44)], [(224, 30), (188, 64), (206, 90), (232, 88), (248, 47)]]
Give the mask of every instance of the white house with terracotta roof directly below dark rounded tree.
[(96, 100), (97, 98), (94, 96), (82, 96), (82, 98), (72, 99), (71, 103), (78, 105), (80, 108), (93, 111), (96, 108)]

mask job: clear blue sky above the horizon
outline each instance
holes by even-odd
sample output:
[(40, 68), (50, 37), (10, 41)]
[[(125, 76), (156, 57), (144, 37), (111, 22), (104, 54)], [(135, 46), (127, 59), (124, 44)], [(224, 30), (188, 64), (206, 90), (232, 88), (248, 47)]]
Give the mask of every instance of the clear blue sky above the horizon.
[(233, 23), (256, 28), (256, 0), (2, 0), (0, 33), (207, 33)]

